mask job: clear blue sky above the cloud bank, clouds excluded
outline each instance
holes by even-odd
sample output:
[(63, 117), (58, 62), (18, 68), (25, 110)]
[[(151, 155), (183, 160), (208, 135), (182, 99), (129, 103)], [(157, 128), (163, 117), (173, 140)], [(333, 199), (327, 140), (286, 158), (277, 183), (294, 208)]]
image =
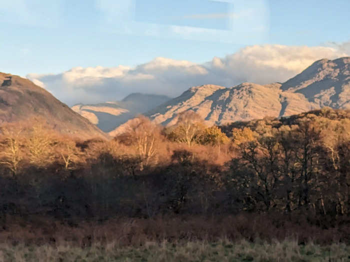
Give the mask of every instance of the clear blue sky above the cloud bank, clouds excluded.
[(349, 0), (0, 0), (0, 71), (135, 66), (159, 56), (203, 63), (252, 44), (342, 43), (349, 10)]

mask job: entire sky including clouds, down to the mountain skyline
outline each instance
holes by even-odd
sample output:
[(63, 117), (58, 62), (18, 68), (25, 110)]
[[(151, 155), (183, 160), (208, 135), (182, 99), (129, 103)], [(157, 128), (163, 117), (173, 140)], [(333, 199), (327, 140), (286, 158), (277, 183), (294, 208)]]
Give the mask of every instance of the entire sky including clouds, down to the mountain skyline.
[(350, 53), (349, 0), (0, 0), (0, 71), (58, 99), (285, 81)]

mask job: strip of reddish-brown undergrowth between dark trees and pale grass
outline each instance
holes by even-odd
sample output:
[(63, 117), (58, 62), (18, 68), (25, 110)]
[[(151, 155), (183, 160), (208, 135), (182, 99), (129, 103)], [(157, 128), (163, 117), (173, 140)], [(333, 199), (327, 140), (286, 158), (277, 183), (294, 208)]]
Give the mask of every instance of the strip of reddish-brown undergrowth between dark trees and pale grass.
[(142, 246), (146, 242), (216, 242), (291, 239), (298, 244), (350, 243), (350, 226), (310, 225), (305, 217), (240, 214), (237, 216), (157, 216), (152, 219), (113, 218), (106, 221), (52, 220), (45, 217), (11, 217), (1, 227), (0, 243), (11, 245), (63, 245), (88, 247), (93, 243)]

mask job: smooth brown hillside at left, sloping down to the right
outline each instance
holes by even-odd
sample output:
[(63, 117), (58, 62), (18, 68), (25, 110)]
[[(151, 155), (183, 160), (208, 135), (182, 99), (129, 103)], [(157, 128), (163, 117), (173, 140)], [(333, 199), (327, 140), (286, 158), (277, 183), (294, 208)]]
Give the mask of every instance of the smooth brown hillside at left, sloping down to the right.
[(28, 79), (0, 73), (0, 124), (40, 117), (62, 134), (88, 138), (108, 135)]

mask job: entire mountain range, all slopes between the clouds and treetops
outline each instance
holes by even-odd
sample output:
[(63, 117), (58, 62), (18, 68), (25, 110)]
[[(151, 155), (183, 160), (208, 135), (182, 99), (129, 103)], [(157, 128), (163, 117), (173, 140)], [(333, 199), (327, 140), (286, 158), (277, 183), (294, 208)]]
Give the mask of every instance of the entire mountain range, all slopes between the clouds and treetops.
[(208, 84), (191, 87), (173, 99), (133, 93), (121, 101), (72, 108), (28, 79), (0, 73), (0, 124), (39, 116), (63, 134), (109, 138), (140, 113), (156, 123), (172, 125), (179, 113), (192, 110), (208, 125), (223, 125), (324, 106), (350, 109), (349, 64), (350, 57), (321, 59), (284, 83), (241, 83), (229, 88)]

